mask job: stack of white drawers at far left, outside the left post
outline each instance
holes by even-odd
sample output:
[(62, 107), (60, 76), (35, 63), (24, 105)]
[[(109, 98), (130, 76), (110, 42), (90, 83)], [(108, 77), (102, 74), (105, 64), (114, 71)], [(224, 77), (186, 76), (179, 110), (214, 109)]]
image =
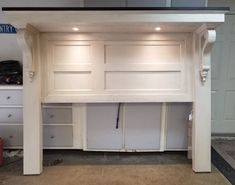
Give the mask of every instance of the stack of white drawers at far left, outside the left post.
[(5, 148), (22, 148), (22, 86), (0, 86), (0, 137)]

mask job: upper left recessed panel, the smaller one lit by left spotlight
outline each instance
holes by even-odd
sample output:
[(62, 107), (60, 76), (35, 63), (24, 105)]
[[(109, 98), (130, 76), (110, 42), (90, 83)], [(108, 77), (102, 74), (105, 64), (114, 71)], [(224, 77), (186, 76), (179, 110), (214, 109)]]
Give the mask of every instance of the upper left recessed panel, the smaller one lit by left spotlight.
[(53, 64), (84, 64), (90, 63), (90, 46), (76, 45), (76, 43), (54, 44)]

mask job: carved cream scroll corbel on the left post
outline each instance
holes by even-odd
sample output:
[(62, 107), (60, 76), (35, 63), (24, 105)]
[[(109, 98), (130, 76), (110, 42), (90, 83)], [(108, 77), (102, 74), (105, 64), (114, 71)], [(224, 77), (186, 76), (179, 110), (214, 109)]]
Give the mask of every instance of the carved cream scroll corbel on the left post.
[(23, 53), (23, 67), (24, 74), (27, 75), (30, 82), (35, 76), (35, 52), (34, 47), (37, 44), (35, 41), (35, 34), (37, 31), (27, 25), (25, 29), (17, 30), (17, 40)]

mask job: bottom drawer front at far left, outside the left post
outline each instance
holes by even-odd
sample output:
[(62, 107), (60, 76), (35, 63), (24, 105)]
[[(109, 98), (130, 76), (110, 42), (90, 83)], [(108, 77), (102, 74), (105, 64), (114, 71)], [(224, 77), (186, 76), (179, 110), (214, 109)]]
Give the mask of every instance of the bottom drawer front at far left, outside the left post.
[(23, 146), (23, 125), (0, 125), (5, 147)]

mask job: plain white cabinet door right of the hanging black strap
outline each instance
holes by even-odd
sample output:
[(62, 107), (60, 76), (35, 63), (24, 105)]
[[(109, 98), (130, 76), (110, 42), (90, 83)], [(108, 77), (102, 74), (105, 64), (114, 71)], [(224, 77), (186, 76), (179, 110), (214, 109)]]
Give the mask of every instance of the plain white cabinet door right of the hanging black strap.
[(161, 104), (125, 104), (125, 149), (159, 150)]

